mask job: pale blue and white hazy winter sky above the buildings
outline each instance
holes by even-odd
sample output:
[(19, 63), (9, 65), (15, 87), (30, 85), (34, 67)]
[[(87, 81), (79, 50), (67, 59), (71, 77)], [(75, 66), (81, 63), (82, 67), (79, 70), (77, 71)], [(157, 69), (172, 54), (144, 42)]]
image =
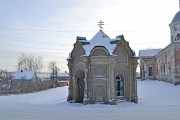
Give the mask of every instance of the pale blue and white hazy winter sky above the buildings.
[(77, 36), (90, 40), (104, 22), (110, 37), (124, 35), (136, 55), (140, 49), (170, 43), (178, 0), (0, 0), (0, 69), (15, 71), (23, 53), (43, 57), (68, 71), (67, 60)]

